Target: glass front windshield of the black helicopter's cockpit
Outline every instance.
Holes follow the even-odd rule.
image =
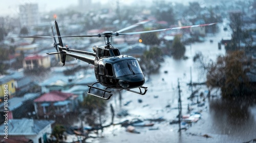
[[[140,65],[137,60],[124,60],[115,63],[113,66],[116,77],[142,74]]]

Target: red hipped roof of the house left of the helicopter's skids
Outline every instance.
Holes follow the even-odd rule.
[[[60,91],[52,91],[49,93],[42,94],[39,98],[35,99],[34,102],[56,102],[65,101],[68,98],[74,96],[72,93],[63,93]]]

